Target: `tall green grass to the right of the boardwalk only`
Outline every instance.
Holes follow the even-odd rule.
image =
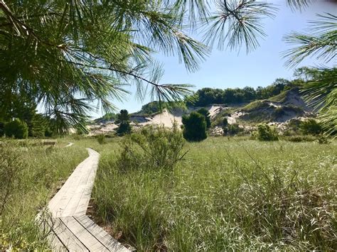
[[[173,170],[102,153],[97,217],[138,251],[336,250],[336,141],[187,143]]]

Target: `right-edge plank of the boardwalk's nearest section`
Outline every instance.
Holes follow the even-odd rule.
[[[121,243],[119,243],[116,239],[114,239],[112,236],[107,234],[106,231],[104,231],[100,226],[95,224],[94,221],[92,221],[89,217],[86,215],[82,215],[80,217],[74,217],[77,221],[82,224],[82,226],[85,227],[90,233],[96,237],[96,239],[99,239],[102,244],[106,248],[109,249],[109,251],[122,251],[127,252],[129,249],[125,248]]]

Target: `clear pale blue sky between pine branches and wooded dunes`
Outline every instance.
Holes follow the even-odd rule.
[[[210,57],[200,65],[198,72],[187,72],[183,64],[178,63],[178,57],[165,57],[157,55],[157,60],[164,64],[164,76],[161,83],[188,83],[195,85],[195,91],[202,87],[213,87],[225,89],[228,87],[265,87],[277,77],[292,78],[294,69],[284,66],[285,60],[281,53],[289,48],[284,43],[283,37],[291,31],[304,31],[307,21],[315,20],[316,13],[337,13],[337,5],[332,1],[317,0],[302,12],[291,11],[285,4],[285,0],[269,0],[269,3],[277,4],[279,11],[275,18],[264,20],[264,31],[267,37],[260,40],[260,48],[252,53],[246,54],[245,48],[240,53],[237,51],[219,51],[213,48]],[[193,35],[193,38],[199,38]],[[301,65],[319,65],[315,59],[307,59]],[[336,63],[336,62],[335,62]],[[299,65],[299,66],[301,66]],[[331,62],[329,65],[333,65]],[[118,109],[127,109],[135,112],[141,109],[142,104],[150,102],[149,96],[144,102],[134,98],[134,87],[129,87],[132,95],[125,102],[114,102]],[[92,114],[93,117],[102,115],[102,111]]]

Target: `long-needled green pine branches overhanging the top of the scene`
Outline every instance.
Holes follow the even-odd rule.
[[[92,109],[112,112],[112,101],[124,99],[129,84],[137,86],[138,99],[149,93],[159,102],[187,97],[191,85],[161,83],[154,53],[177,55],[195,71],[214,44],[257,48],[265,35],[263,18],[277,12],[264,1],[213,2],[214,10],[201,0],[1,0],[0,110],[27,94],[64,133],[70,126],[84,127]],[[302,9],[311,1],[287,2]],[[319,18],[314,33],[287,36],[288,43],[299,45],[285,53],[288,65],[311,55],[327,62],[336,56],[336,16]],[[203,41],[188,31],[203,31]]]

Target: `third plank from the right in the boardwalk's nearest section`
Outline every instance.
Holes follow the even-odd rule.
[[[64,244],[65,248],[69,251],[89,251],[87,247],[71,232],[60,218],[56,218],[53,223],[52,229],[55,236]],[[55,241],[55,239],[54,239]],[[52,243],[53,246],[58,247],[58,241]]]

